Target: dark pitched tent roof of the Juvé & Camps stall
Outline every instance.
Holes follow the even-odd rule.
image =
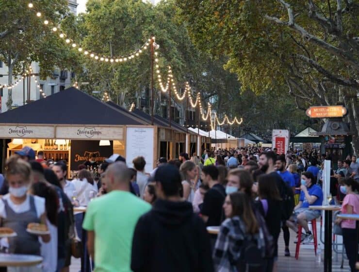
[[[143,125],[142,119],[70,87],[0,114],[0,123]]]

